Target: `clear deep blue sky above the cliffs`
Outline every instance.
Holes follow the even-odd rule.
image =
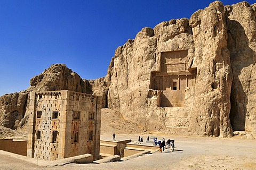
[[[115,49],[143,27],[190,18],[211,2],[0,0],[0,96],[27,89],[55,63],[82,79],[104,77]]]

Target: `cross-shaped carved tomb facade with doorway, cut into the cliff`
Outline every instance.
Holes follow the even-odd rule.
[[[186,88],[195,86],[196,68],[187,66],[187,55],[188,50],[161,53],[160,69],[150,78],[150,89],[159,98],[157,107],[182,107]]]

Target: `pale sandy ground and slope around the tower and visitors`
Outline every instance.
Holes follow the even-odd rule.
[[[148,135],[150,138],[157,136],[158,139],[165,137],[175,140],[175,150],[171,152],[167,149],[162,153],[155,152],[125,162],[67,164],[55,167],[37,166],[36,160],[35,164],[31,164],[9,155],[0,155],[0,169],[256,169],[255,140],[150,134],[109,109],[102,109],[101,129],[102,140],[112,140],[113,132],[116,133],[116,140],[136,141],[139,135],[145,140]],[[0,132],[6,135],[5,130],[0,128]],[[23,134],[24,132],[20,135]]]

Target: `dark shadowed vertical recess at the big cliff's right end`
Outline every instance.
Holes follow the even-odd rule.
[[[242,25],[235,20],[229,19],[227,20],[227,25],[227,48],[230,51],[230,63],[233,72],[229,118],[233,131],[244,131],[248,98],[243,87],[245,83],[241,82],[239,77],[243,76],[244,79],[244,76],[248,76],[250,79],[251,76],[249,74],[244,75],[242,70],[254,63],[254,53],[249,47],[249,39]]]

